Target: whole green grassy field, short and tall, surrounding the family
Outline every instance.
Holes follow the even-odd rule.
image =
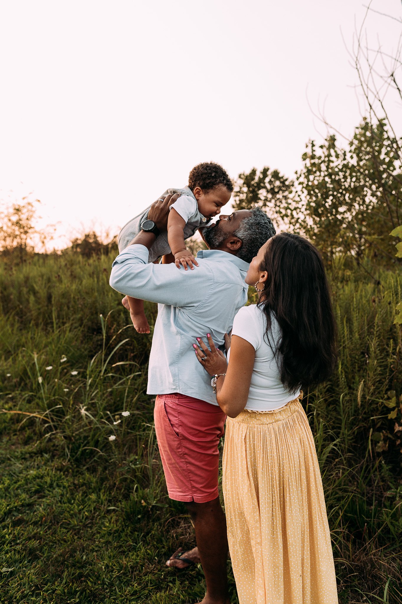
[[[150,336],[109,288],[112,257],[0,260],[0,601],[196,602],[194,542],[167,497],[145,395]],[[331,273],[339,367],[304,405],[342,603],[402,603],[400,275]],[[148,307],[155,320],[156,309]],[[152,334],[151,334],[152,335]],[[396,426],[396,431],[395,431]],[[110,439],[115,437],[115,439]],[[230,562],[232,602],[237,602]]]

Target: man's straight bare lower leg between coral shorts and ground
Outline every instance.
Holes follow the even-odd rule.
[[[196,529],[197,547],[206,580],[206,594],[200,604],[229,604],[228,535],[219,497],[208,503],[186,503]]]

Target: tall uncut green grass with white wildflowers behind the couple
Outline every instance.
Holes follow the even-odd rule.
[[[152,548],[155,525],[184,539],[190,524],[183,506],[167,498],[153,400],[145,395],[152,334],[130,326],[121,296],[109,288],[111,263],[112,257],[75,254],[0,262],[0,430],[7,443],[48,451],[72,472],[102,468],[121,493],[126,518],[141,524]],[[393,324],[401,277],[380,271],[378,285],[342,259],[330,277],[339,365],[330,381],[305,393],[304,405],[321,464],[339,597],[402,603],[402,453],[395,432],[402,424],[401,332]],[[152,325],[155,313],[148,305]],[[147,547],[137,577],[144,594]],[[11,583],[20,585],[18,574]],[[165,587],[154,587],[161,602],[188,595],[180,583]]]

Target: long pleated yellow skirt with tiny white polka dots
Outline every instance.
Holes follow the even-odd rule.
[[[223,495],[240,604],[337,604],[321,474],[298,399],[228,417]]]

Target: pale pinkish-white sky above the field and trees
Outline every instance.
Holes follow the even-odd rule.
[[[60,246],[115,234],[200,161],[292,176],[325,134],[307,89],[345,135],[359,123],[340,30],[351,47],[367,3],[0,1],[0,201],[33,191]],[[370,13],[369,43],[392,52],[401,27]]]

